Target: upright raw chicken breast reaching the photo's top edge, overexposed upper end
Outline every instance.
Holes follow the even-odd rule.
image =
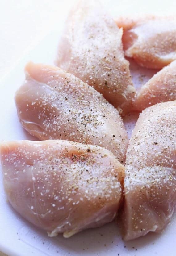
[[[98,1],[79,1],[61,36],[57,65],[93,86],[125,114],[135,88],[124,58],[122,33]]]

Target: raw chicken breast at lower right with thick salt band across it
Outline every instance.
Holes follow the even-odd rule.
[[[124,240],[159,232],[176,205],[176,101],[145,109],[129,142],[124,179]]]

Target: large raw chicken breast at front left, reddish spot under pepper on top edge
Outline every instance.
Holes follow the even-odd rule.
[[[49,236],[115,218],[124,166],[107,149],[63,140],[3,142],[0,149],[10,204]]]

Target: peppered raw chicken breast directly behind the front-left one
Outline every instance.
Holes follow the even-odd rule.
[[[102,146],[124,162],[127,133],[118,111],[99,92],[57,67],[28,63],[25,70],[15,101],[30,134]]]

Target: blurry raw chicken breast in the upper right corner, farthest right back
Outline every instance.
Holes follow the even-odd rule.
[[[148,16],[141,19],[119,18],[124,29],[125,55],[139,65],[161,69],[176,60],[176,18]],[[147,33],[146,33],[147,32]]]

